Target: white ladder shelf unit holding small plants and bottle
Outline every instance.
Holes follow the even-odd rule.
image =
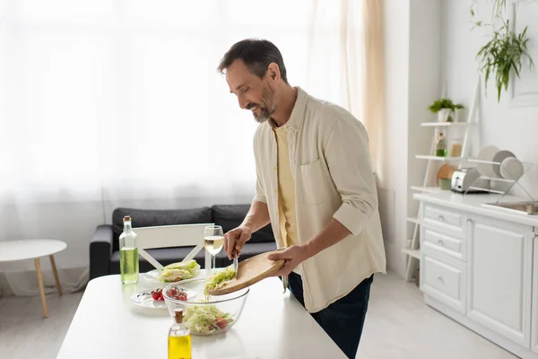
[[[440,193],[444,191],[441,188],[436,186],[431,186],[431,177],[432,177],[432,164],[438,162],[450,162],[457,164],[458,167],[461,166],[461,163],[465,161],[468,157],[469,152],[469,142],[470,134],[469,131],[478,124],[478,107],[480,101],[480,86],[481,86],[481,75],[478,75],[476,86],[474,87],[473,93],[473,102],[470,107],[469,117],[465,122],[422,122],[421,127],[432,127],[434,130],[433,138],[430,146],[430,154],[416,154],[415,158],[417,160],[426,160],[428,165],[426,167],[426,173],[424,175],[424,181],[422,186],[412,186],[411,189],[414,191],[424,192],[424,193]],[[435,139],[438,136],[438,133],[441,131],[446,131],[450,127],[461,128],[464,131],[464,139],[462,144],[462,151],[459,157],[440,157],[435,155]],[[437,185],[437,183],[435,183]],[[412,238],[410,244],[406,243],[406,248],[402,249],[405,254],[405,280],[407,282],[412,280],[413,275],[416,273],[417,268],[420,265],[421,260],[421,246],[420,246],[420,222],[421,214],[420,207],[416,217],[407,217],[406,221],[414,225]]]

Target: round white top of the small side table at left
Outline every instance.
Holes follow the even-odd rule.
[[[66,247],[65,242],[56,240],[0,241],[0,262],[47,257]]]

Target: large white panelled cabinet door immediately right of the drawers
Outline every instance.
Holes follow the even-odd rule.
[[[467,316],[529,348],[533,227],[479,216],[469,227]]]

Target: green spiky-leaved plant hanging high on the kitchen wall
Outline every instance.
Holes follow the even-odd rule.
[[[503,18],[503,10],[506,9],[507,0],[494,0],[493,19],[491,23],[482,21],[474,22],[477,27],[490,26],[492,28],[491,39],[480,49],[476,55],[484,73],[484,84],[487,85],[490,76],[495,78],[497,88],[497,101],[500,101],[500,93],[508,90],[510,75],[515,73],[520,77],[523,60],[529,60],[529,68],[534,66],[533,59],[527,52],[528,38],[527,27],[520,33],[510,30],[508,20]],[[471,7],[471,15],[475,15],[476,2]],[[499,25],[500,24],[500,25]]]

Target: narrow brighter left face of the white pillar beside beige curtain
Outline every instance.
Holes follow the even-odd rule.
[[[408,0],[385,1],[384,31],[386,121],[382,138],[382,168],[378,176],[379,186],[386,190],[385,196],[391,200],[380,200],[380,212],[385,222],[384,229],[388,229],[384,231],[387,267],[402,273],[404,255],[401,233],[405,232],[404,214],[407,206]]]

